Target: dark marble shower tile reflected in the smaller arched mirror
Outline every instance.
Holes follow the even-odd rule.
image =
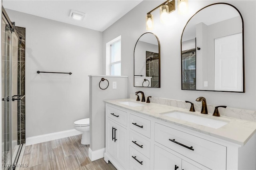
[[[159,87],[159,54],[146,51],[146,76],[152,77],[151,87]]]

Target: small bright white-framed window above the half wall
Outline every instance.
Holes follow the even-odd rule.
[[[106,75],[121,75],[121,36],[106,44]]]

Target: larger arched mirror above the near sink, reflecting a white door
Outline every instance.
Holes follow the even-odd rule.
[[[231,4],[206,6],[181,36],[182,90],[245,92],[244,22]]]

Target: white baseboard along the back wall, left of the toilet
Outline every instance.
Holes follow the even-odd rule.
[[[31,144],[47,142],[50,140],[66,138],[69,136],[75,136],[78,134],[82,134],[82,132],[75,130],[75,129],[71,129],[71,130],[65,130],[65,131],[61,131],[61,132],[54,132],[54,133],[33,136],[33,137],[26,138],[26,146],[31,145]]]

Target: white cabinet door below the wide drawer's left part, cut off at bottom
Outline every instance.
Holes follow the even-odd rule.
[[[155,170],[181,170],[181,162],[181,158],[155,145]]]

